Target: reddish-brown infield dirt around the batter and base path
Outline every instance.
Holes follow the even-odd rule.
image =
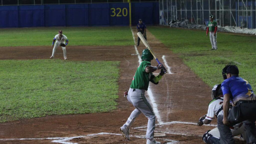
[[[134,33],[135,29],[134,29]],[[135,39],[137,36],[135,36]],[[160,43],[150,32],[147,40],[159,61],[166,62],[171,67],[173,74],[166,74],[158,85],[150,84],[155,105],[158,110],[155,131],[165,133],[165,137],[156,137],[162,143],[204,143],[201,136],[213,126],[197,127],[200,116],[207,113],[208,103],[211,100],[211,88],[196,76],[178,55],[173,54]],[[138,52],[141,53],[145,46],[141,43]],[[0,59],[48,59],[52,47],[1,47]],[[23,119],[0,124],[0,139],[42,138],[40,140],[0,140],[0,143],[53,143],[51,137],[76,137],[66,142],[69,143],[146,143],[143,136],[146,133],[147,118],[141,114],[136,120],[130,134],[130,141],[120,136],[119,128],[125,123],[134,107],[123,97],[124,89],[129,89],[132,78],[138,67],[138,57],[134,46],[67,46],[69,60],[114,60],[120,61],[119,98],[118,108],[112,112],[46,116],[42,118]],[[55,58],[63,59],[63,52],[58,48]],[[152,65],[157,65],[152,60]],[[146,93],[147,95],[147,93]],[[163,124],[159,124],[159,122]],[[169,122],[169,123],[168,123]],[[216,124],[216,120],[212,121]],[[140,128],[138,128],[140,127]],[[105,132],[105,133],[101,133]],[[57,138],[56,138],[57,139]],[[244,143],[239,141],[239,143]]]

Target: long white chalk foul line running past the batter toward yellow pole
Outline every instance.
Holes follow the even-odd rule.
[[[131,28],[131,31],[132,31],[132,27],[130,27],[130,28]],[[133,36],[134,44],[136,44],[133,31],[132,31],[132,36]],[[135,48],[136,54],[138,55],[139,64],[141,64],[142,60],[141,60],[141,57],[140,57],[140,55],[139,55],[137,46],[134,45],[134,48]],[[155,115],[156,115],[156,120],[157,120],[160,124],[163,123],[163,121],[161,120],[161,116],[160,116],[160,114],[159,114],[159,111],[158,111],[158,109],[157,109],[157,104],[156,104],[156,102],[155,102],[155,98],[154,98],[153,93],[152,93],[152,91],[151,91],[150,85],[148,86],[147,94],[148,94],[148,98],[149,98],[150,101],[151,101],[151,105],[152,105],[153,111],[154,111],[154,113],[155,113]]]

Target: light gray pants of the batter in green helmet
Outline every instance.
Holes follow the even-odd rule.
[[[127,99],[132,103],[135,109],[128,118],[126,125],[131,121],[134,121],[139,114],[143,113],[148,118],[146,138],[152,140],[155,130],[155,114],[150,103],[145,97],[145,90],[130,88]]]

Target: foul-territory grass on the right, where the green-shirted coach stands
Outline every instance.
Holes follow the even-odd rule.
[[[256,88],[256,37],[233,33],[218,33],[218,50],[212,51],[209,35],[203,30],[151,26],[148,28],[164,45],[183,58],[210,87],[223,81],[222,68],[237,65],[239,75]]]

